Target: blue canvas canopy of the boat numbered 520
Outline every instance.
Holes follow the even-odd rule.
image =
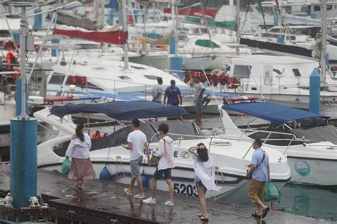
[[[181,106],[165,106],[151,101],[113,101],[108,103],[67,103],[50,109],[50,113],[63,118],[73,113],[105,113],[110,118],[129,120],[136,118],[162,118],[188,115]]]

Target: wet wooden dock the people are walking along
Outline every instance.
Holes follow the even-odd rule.
[[[156,205],[146,205],[124,194],[125,185],[112,181],[90,181],[85,191],[76,191],[73,182],[58,172],[38,171],[38,193],[48,202],[52,218],[82,223],[201,223],[198,198],[176,195],[176,206],[164,205],[168,194],[158,192]],[[9,190],[9,165],[0,164],[0,194]],[[135,191],[137,188],[135,189]],[[136,193],[136,192],[135,192]],[[149,191],[146,191],[149,196]],[[208,201],[209,223],[331,223],[271,211],[263,220],[251,217],[254,208]],[[41,210],[42,213],[42,210]],[[0,221],[1,223],[1,221]]]

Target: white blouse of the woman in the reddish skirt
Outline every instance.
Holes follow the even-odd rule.
[[[91,138],[87,133],[83,134],[85,137],[83,142],[80,138],[75,138],[70,141],[67,152],[65,152],[66,157],[74,157],[77,159],[87,159],[90,157]]]

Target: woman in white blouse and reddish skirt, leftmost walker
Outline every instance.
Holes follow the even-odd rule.
[[[91,139],[84,133],[84,125],[77,125],[75,135],[68,146],[65,157],[71,157],[69,179],[76,181],[75,188],[84,189],[85,181],[95,178],[95,170],[90,160]]]

